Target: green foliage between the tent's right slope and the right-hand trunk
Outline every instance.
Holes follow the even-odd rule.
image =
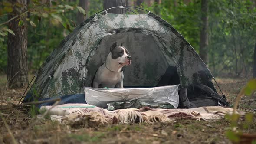
[[[147,7],[145,3],[142,5]],[[147,9],[170,23],[194,49],[199,49],[200,0],[191,0],[191,3],[187,4],[184,0],[162,0],[160,4],[154,3]]]

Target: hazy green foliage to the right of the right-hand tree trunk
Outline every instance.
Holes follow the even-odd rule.
[[[256,8],[251,5],[249,0],[211,1],[210,66],[250,72],[256,40]]]

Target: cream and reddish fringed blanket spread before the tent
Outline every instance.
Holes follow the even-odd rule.
[[[52,106],[42,106],[40,112],[43,113],[51,107]],[[108,111],[87,104],[64,104],[57,105],[50,109],[49,115],[52,120],[57,120],[61,123],[89,118],[89,121],[95,121],[98,124],[128,124],[167,122],[177,118],[211,121],[223,118],[224,115],[232,113],[232,111],[232,108],[224,108],[220,106],[190,109],[152,109],[143,107],[140,109],[130,108]],[[238,114],[244,115],[244,112],[239,111]]]

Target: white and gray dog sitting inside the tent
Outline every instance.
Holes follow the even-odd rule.
[[[110,48],[106,61],[95,74],[92,82],[93,87],[124,88],[122,67],[125,65],[131,65],[131,56],[129,56],[129,52],[123,44],[118,46],[115,42]]]

